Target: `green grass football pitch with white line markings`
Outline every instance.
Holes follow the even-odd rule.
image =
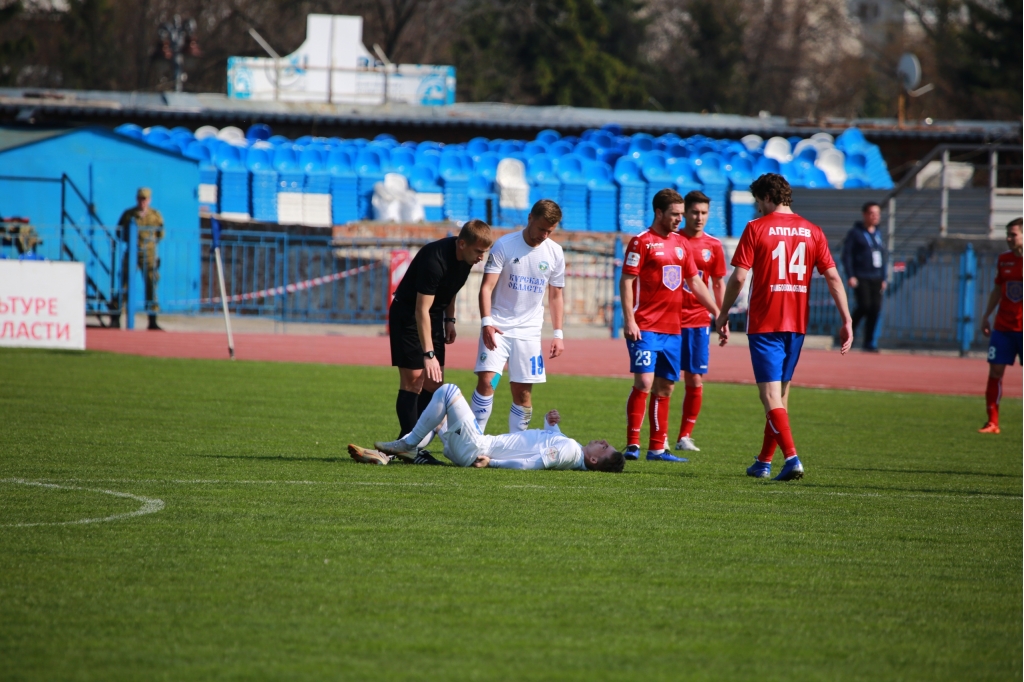
[[[984,436],[981,398],[796,389],[807,476],[772,483],[752,386],[621,475],[351,462],[396,388],[0,351],[0,679],[1021,678],[1020,400]],[[628,391],[554,376],[535,422],[621,444]]]

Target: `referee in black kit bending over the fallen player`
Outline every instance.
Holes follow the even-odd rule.
[[[388,311],[391,365],[400,386],[395,412],[402,437],[413,430],[434,391],[444,381],[444,344],[455,342],[455,297],[469,270],[494,244],[490,226],[470,220],[459,237],[426,245],[413,258]],[[440,464],[420,451],[414,464]]]

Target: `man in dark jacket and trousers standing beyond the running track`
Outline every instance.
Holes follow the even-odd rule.
[[[886,265],[888,254],[879,233],[882,222],[882,207],[867,202],[860,209],[863,220],[853,223],[843,243],[843,269],[847,283],[857,299],[857,309],[853,311],[853,329],[864,319],[864,350],[878,352],[874,345],[874,328],[882,312],[882,292],[886,290]]]

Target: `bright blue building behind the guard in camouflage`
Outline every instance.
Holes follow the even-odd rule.
[[[194,310],[201,272],[196,161],[102,128],[0,127],[0,216],[30,220],[43,239],[38,255],[86,264],[90,313],[102,310],[97,302],[115,286],[111,238],[143,186],[164,216],[161,309]],[[141,273],[132,270],[141,291]]]

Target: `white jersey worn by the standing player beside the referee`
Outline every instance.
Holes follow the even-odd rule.
[[[554,240],[531,247],[523,232],[495,242],[483,267],[499,274],[490,316],[510,339],[540,338],[544,327],[544,293],[548,286],[565,286],[565,256]]]

